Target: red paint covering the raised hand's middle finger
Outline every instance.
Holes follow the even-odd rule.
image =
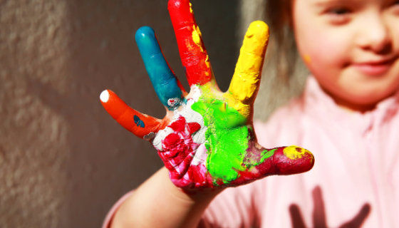
[[[201,38],[202,51],[192,40],[193,26],[197,27],[197,23],[194,14],[190,12],[190,1],[170,0],[167,8],[175,29],[177,46],[179,46],[180,58],[185,67],[189,85],[203,85],[211,81],[212,72],[205,62],[207,50],[204,42]]]

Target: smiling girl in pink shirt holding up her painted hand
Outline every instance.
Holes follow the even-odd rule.
[[[168,87],[167,91],[162,92],[163,95],[158,93],[169,109],[169,118],[158,121],[129,110],[129,115],[135,116],[135,125],[128,125],[125,114],[118,114],[121,108],[126,109],[124,103],[110,91],[106,90],[101,94],[105,109],[135,135],[150,140],[168,169],[162,168],[135,192],[120,199],[105,220],[104,227],[399,226],[399,218],[395,216],[399,211],[399,140],[395,139],[395,135],[399,133],[399,1],[268,2],[273,5],[269,7],[273,9],[272,14],[269,14],[274,16],[271,20],[272,28],[283,31],[281,34],[284,36],[287,34],[284,32],[284,24],[289,24],[294,31],[299,53],[312,76],[309,76],[301,97],[277,110],[268,123],[254,124],[257,140],[266,147],[291,143],[304,146],[314,152],[317,162],[313,163],[313,156],[308,150],[299,147],[280,147],[276,150],[261,148],[252,135],[252,104],[259,85],[259,76],[253,75],[256,75],[257,70],[261,71],[259,62],[263,61],[266,27],[260,23],[250,26],[236,68],[236,73],[242,74],[234,73],[229,92],[219,94],[212,86],[206,86],[212,84],[213,76],[199,30],[194,26],[190,31],[191,41],[194,43],[190,47],[197,45],[197,53],[190,52],[191,49],[182,50],[181,47],[187,43],[179,44],[183,65],[195,67],[195,71],[191,71],[190,67],[186,68],[192,91],[187,95],[177,87]],[[170,10],[184,3],[185,1],[170,1]],[[177,20],[176,15],[183,14],[171,15],[172,22]],[[179,24],[176,21],[173,23],[174,26]],[[176,31],[178,42],[179,32],[180,30]],[[143,30],[140,34],[150,36],[152,33]],[[140,41],[137,36],[136,39],[139,48],[140,45],[146,45],[147,40]],[[167,65],[163,58],[156,62],[157,65],[152,64],[155,61],[146,63],[145,56],[148,52],[142,50],[149,50],[148,47],[153,46],[140,48],[151,79],[155,75],[167,74],[163,72],[165,68],[155,69],[155,66]],[[185,53],[190,55],[187,57]],[[247,58],[251,60],[246,62]],[[204,61],[198,61],[201,59]],[[190,61],[197,62],[190,65]],[[245,63],[251,64],[248,67]],[[192,72],[202,72],[202,77],[190,75]],[[173,78],[163,77],[165,81],[162,83],[175,82]],[[251,80],[253,83],[249,82]],[[156,83],[155,80],[152,82],[156,90],[159,87],[162,89],[161,83]],[[237,86],[238,84],[244,86]],[[180,84],[175,82],[173,85]],[[187,99],[172,99],[175,97]],[[211,105],[203,101],[211,99],[209,97],[213,99]],[[217,105],[214,101],[216,98],[224,100],[226,105],[212,106]],[[234,99],[241,103],[234,103]],[[118,108],[113,108],[117,106]],[[232,107],[238,113],[234,114],[234,118],[216,115],[218,110],[226,111]],[[217,128],[208,123],[210,114],[205,112],[201,119],[200,115],[191,115],[191,110],[200,114],[212,110],[219,117],[212,119],[212,123],[224,119],[244,123],[239,125],[239,129],[245,127],[247,133],[240,133],[248,134],[246,137],[249,140],[246,145],[248,149],[242,151],[245,155],[240,163],[244,166],[242,170],[232,164],[234,169],[229,169],[223,175],[220,173],[226,171],[226,166],[221,166],[219,172],[212,171],[212,167],[219,167],[219,163],[210,164],[212,157],[208,159],[207,156],[226,148],[227,152],[234,151],[236,144],[226,143],[229,146],[223,146],[225,142],[221,137],[218,142],[222,147],[217,147],[217,143],[212,145],[212,135],[209,136],[207,129],[215,130],[212,132],[215,135],[218,132]],[[197,122],[188,121],[194,115],[197,116]],[[235,118],[241,118],[241,115],[244,119]],[[184,118],[184,124],[179,125]],[[224,124],[230,124],[229,121]],[[149,127],[145,127],[147,125]],[[181,130],[179,134],[177,130],[173,132],[181,126],[186,126],[185,130]],[[237,126],[234,126],[236,129]],[[196,144],[201,139],[195,136],[201,135],[202,130],[208,137],[204,147],[200,143]],[[180,138],[170,135],[179,135]],[[177,147],[167,147],[175,146],[180,139],[190,141],[191,144],[188,145],[195,147],[185,147],[182,151],[175,151]],[[250,146],[251,143],[254,146]],[[188,154],[190,150],[196,153]],[[173,165],[176,162],[175,157],[171,154],[167,157],[165,154],[174,151],[176,153],[173,156],[179,157],[182,152],[186,153],[185,157],[192,156],[191,165],[184,166],[184,162],[179,163],[184,167]],[[259,155],[261,158],[257,160],[256,156],[254,158],[249,155]],[[223,164],[230,164],[229,160],[233,160],[234,156],[229,154],[224,157]],[[254,164],[254,161],[258,163]],[[315,165],[310,172],[301,175],[267,177],[241,187],[217,188],[242,185],[271,174],[304,172],[311,169],[313,164]],[[205,170],[199,168],[201,165],[204,165]],[[198,170],[193,167],[198,167]],[[180,176],[182,170],[188,175]],[[231,170],[238,172],[238,175],[230,173]],[[252,171],[247,172],[248,170]],[[168,171],[175,185],[170,182]],[[203,173],[209,175],[201,175]],[[215,176],[219,179],[214,179]],[[211,181],[207,178],[211,178]],[[187,190],[192,188],[202,190]]]

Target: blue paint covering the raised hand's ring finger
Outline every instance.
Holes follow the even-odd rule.
[[[183,99],[182,90],[177,86],[177,78],[163,56],[154,30],[148,26],[141,27],[136,32],[135,39],[158,98],[169,110],[175,110],[176,107],[168,105],[167,100]]]

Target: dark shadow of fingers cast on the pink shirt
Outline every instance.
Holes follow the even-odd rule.
[[[312,192],[313,202],[314,202],[314,211],[312,214],[313,217],[313,226],[314,228],[326,228],[327,219],[326,219],[326,211],[324,208],[324,200],[323,195],[321,193],[321,188],[319,186],[315,187]],[[371,206],[366,203],[363,204],[358,214],[356,214],[353,219],[348,222],[343,223],[339,228],[358,228],[361,227],[368,214],[370,214]],[[291,215],[292,227],[294,228],[304,228],[306,227],[304,218],[301,214],[301,209],[297,204],[291,204],[289,207],[289,214]]]

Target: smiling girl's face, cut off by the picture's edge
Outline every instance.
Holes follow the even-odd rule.
[[[399,1],[293,0],[296,43],[338,105],[371,110],[399,88]]]

